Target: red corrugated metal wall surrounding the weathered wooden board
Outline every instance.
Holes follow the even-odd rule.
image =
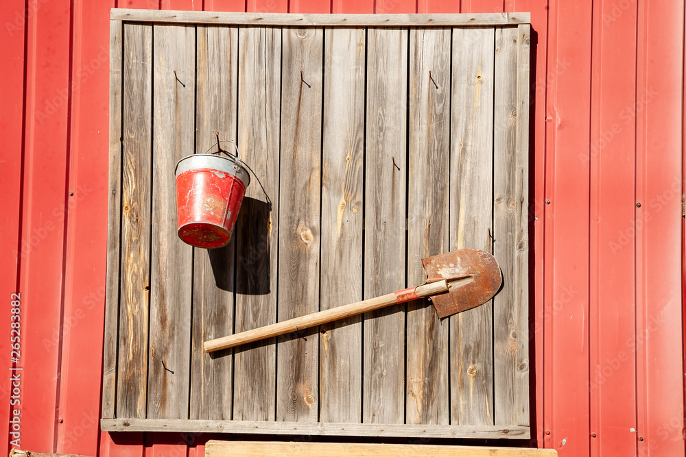
[[[204,452],[206,437],[98,428],[110,8],[531,12],[533,444],[684,455],[685,12],[648,0],[0,2],[3,443]]]

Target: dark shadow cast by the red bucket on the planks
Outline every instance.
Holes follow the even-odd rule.
[[[245,295],[266,295],[271,291],[270,205],[246,197],[241,203],[233,240],[220,249],[208,249],[217,287]],[[233,266],[235,282],[227,269]],[[229,277],[231,276],[231,277]]]

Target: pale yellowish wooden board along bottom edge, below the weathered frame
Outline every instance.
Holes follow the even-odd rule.
[[[447,445],[392,445],[362,443],[278,443],[273,441],[208,441],[205,457],[248,456],[462,456],[553,457],[554,449]]]

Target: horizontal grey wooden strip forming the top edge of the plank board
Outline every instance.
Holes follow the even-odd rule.
[[[114,8],[121,21],[291,27],[445,27],[451,25],[517,25],[531,22],[528,12],[475,14],[296,14],[203,11],[128,10]]]

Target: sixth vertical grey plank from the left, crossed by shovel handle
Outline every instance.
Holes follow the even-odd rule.
[[[362,299],[365,29],[324,34],[320,308]],[[320,421],[362,419],[362,317],[320,329]]]

